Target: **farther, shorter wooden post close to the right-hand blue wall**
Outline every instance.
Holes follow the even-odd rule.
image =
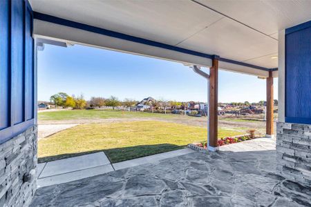
[[[269,71],[269,77],[267,77],[267,121],[266,121],[266,134],[273,135],[273,77],[272,71]]]

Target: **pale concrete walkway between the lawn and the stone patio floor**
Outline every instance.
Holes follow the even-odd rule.
[[[130,168],[142,164],[153,163],[162,159],[186,155],[193,152],[190,149],[174,150],[157,155],[150,155],[138,159],[121,161],[111,164],[104,152],[97,152],[89,155],[48,161],[38,165],[37,169],[37,186],[38,188],[63,184],[69,181],[84,179],[95,175],[102,175],[114,170]]]

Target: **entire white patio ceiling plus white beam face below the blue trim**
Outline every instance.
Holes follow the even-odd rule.
[[[278,31],[311,19],[311,1],[51,1],[30,0],[32,9],[96,28],[269,70],[278,67]],[[70,34],[74,33],[74,34]],[[183,63],[211,66],[206,57],[181,55],[142,43],[35,20],[35,34]],[[267,77],[267,71],[221,61],[224,70]],[[274,77],[277,72],[274,72]]]

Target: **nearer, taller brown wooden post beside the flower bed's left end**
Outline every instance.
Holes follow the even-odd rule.
[[[217,147],[218,135],[218,59],[209,69],[209,146]]]

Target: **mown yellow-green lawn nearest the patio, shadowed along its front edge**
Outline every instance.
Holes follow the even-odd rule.
[[[79,117],[83,117],[85,111],[81,110]],[[46,115],[55,116],[54,119],[68,119],[68,116],[75,116],[76,113],[77,110],[62,111],[62,115],[59,115],[59,112],[55,115],[53,112],[39,113],[39,119],[43,119]],[[131,114],[136,114],[136,112],[131,112]],[[156,114],[138,112],[137,115]],[[109,117],[109,113],[103,113],[102,116]],[[234,130],[221,128],[218,130],[218,137],[240,134],[241,132]],[[203,141],[206,137],[205,128],[164,121],[82,124],[40,139],[38,157],[39,162],[44,162],[104,151],[111,162],[115,163],[185,148],[187,144]]]

